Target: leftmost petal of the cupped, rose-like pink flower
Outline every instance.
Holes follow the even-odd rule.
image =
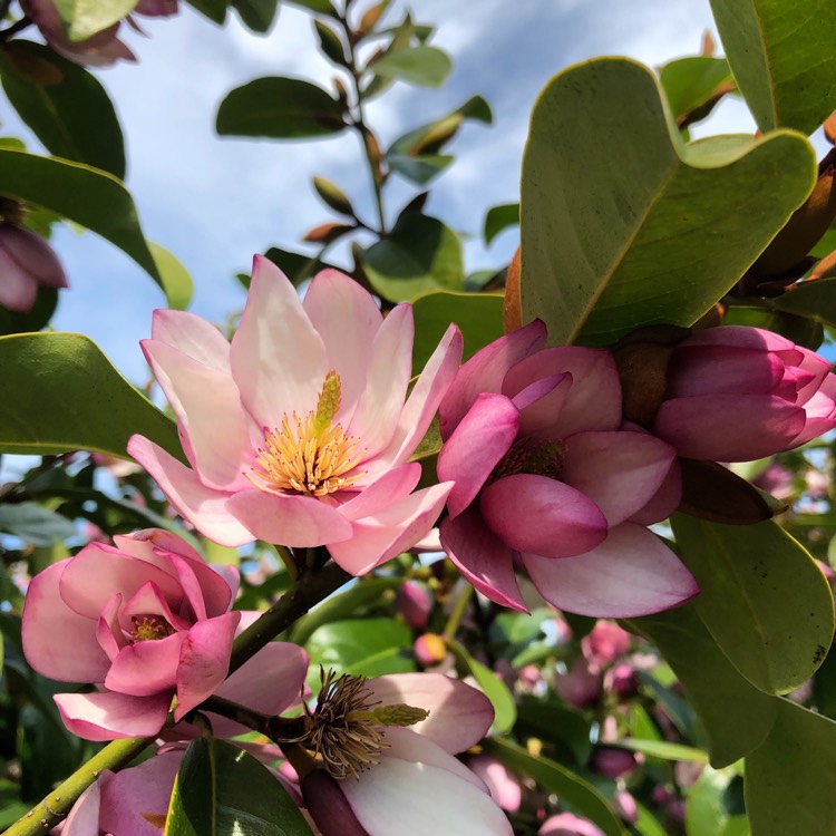
[[[23,654],[49,679],[101,682],[110,663],[96,640],[96,621],[70,610],[60,594],[61,574],[71,560],[47,566],[29,584],[21,628]]]

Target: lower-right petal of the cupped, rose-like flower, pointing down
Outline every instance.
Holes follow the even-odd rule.
[[[177,670],[175,720],[182,720],[226,679],[232,640],[240,618],[241,613],[229,612],[216,619],[198,621],[188,631]]]

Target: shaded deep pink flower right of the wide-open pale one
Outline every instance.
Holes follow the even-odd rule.
[[[584,615],[658,612],[697,584],[644,526],[679,504],[672,447],[621,429],[612,354],[541,349],[535,321],[465,363],[440,406],[438,476],[455,479],[441,544],[493,601],[526,610],[514,575]]]

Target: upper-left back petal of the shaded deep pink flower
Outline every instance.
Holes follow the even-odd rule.
[[[541,320],[534,320],[477,351],[459,369],[441,401],[441,438],[446,440],[450,436],[480,392],[500,392],[508,369],[541,348],[545,340],[546,327]]]

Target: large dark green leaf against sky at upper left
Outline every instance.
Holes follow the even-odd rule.
[[[38,84],[21,61],[46,61],[59,81]],[[0,78],[11,106],[57,157],[125,178],[125,144],[113,103],[98,79],[40,43],[16,40],[0,56]]]

